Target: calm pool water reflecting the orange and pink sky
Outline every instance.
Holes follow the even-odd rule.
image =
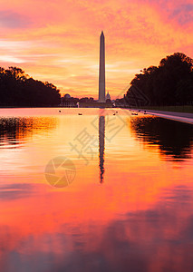
[[[193,270],[193,127],[117,111],[0,110],[1,271]]]

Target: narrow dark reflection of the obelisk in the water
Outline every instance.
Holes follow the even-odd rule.
[[[100,167],[100,182],[104,179],[104,149],[105,149],[105,117],[99,117],[99,167]]]

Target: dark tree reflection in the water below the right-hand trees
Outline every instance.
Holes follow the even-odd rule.
[[[159,117],[138,117],[130,120],[130,128],[138,140],[149,146],[159,146],[160,154],[171,160],[185,160],[190,156],[191,124]]]

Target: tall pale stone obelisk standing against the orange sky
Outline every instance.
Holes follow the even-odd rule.
[[[100,37],[99,102],[105,102],[105,45],[103,31]]]

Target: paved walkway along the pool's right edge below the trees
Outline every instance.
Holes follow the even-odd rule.
[[[163,111],[151,111],[151,110],[134,110],[136,112],[146,112],[151,115],[156,115],[170,120],[183,121],[193,124],[193,113],[188,112],[163,112]]]

